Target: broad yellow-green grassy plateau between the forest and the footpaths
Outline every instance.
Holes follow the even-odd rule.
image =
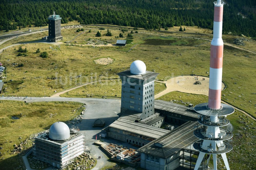
[[[85,28],[89,27],[98,28],[95,26]],[[74,41],[79,44],[86,43],[89,39],[96,39],[95,33],[98,30],[94,28],[92,28],[91,33],[86,31]],[[115,42],[115,36],[122,32],[118,28],[114,29],[116,30],[111,30],[112,37],[104,35],[106,29],[100,30],[102,34],[100,40]],[[189,30],[189,28],[186,29]],[[194,27],[193,29],[195,32],[200,30]],[[78,35],[76,30],[63,29],[63,41],[71,40]],[[124,38],[122,39],[125,39],[131,30],[132,28],[127,29],[127,32],[123,33]],[[154,31],[147,30],[145,32],[154,33]],[[210,43],[195,47],[194,45],[205,42],[205,40],[174,38],[147,33],[134,33],[133,42],[125,47],[65,46],[61,44],[61,47],[58,48],[57,45],[52,44],[23,44],[22,47],[28,49],[27,56],[17,56],[18,46],[10,47],[0,56],[1,62],[7,67],[7,79],[5,80],[7,89],[4,95],[50,96],[55,90],[61,91],[98,79],[118,78],[116,73],[128,69],[130,64],[137,59],[145,62],[147,70],[160,73],[157,76],[158,80],[167,80],[172,73],[174,76],[191,74],[191,72],[202,76],[209,75],[207,72],[209,72]],[[209,31],[205,33],[208,34]],[[176,33],[169,35],[174,34],[176,35]],[[181,33],[177,33],[177,35],[181,35]],[[183,36],[185,35],[183,34]],[[210,38],[212,35],[207,36]],[[225,38],[228,36],[230,36],[230,40],[234,38],[233,35],[225,35]],[[31,35],[29,40],[35,40],[39,37],[41,35]],[[255,41],[251,40],[251,43],[255,43]],[[135,44],[138,45],[127,53],[127,50]],[[57,50],[51,50],[49,46]],[[49,57],[39,57],[39,54],[35,54],[37,48],[41,52],[47,51]],[[254,88],[256,81],[253,78],[256,73],[256,55],[229,46],[224,48],[222,80],[228,88],[222,91],[222,94],[225,95],[222,96],[222,100],[256,117],[256,89]],[[95,64],[95,59],[103,57],[110,57],[114,59],[114,62],[106,66]],[[23,63],[24,66],[17,67],[17,65],[13,66],[12,63]],[[9,81],[11,79],[13,81]],[[100,95],[103,96],[104,94]]]

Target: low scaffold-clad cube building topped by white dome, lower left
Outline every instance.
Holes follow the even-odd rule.
[[[84,152],[83,138],[78,129],[69,129],[65,123],[56,122],[51,125],[49,132],[35,138],[33,157],[63,168]]]

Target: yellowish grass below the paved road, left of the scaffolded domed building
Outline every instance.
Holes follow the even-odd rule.
[[[32,146],[31,135],[49,129],[57,121],[66,121],[74,115],[72,110],[77,109],[80,103],[76,102],[36,102],[23,103],[16,101],[0,102],[0,147],[3,147],[0,156],[0,169],[15,169],[24,166],[21,154],[13,154],[14,144],[24,142],[23,151]],[[12,119],[16,116],[19,119]],[[37,123],[35,123],[37,122]],[[21,137],[21,139],[20,139]],[[24,169],[24,168],[23,168]]]

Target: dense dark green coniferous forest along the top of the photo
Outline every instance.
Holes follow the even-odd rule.
[[[256,1],[225,0],[223,33],[256,37]],[[46,26],[53,11],[61,22],[158,29],[213,28],[213,0],[1,0],[0,30]]]

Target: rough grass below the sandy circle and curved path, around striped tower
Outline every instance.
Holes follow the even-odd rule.
[[[205,95],[187,94],[177,91],[170,92],[158,99],[165,101],[182,100],[183,102],[190,102],[194,105],[208,101],[208,97]],[[175,103],[182,104],[180,102]],[[233,150],[227,153],[230,169],[255,169],[256,163],[251,157],[255,155],[256,151],[254,147],[256,145],[256,122],[239,111],[228,115],[227,118],[234,128],[234,136],[231,142]],[[223,166],[225,165],[222,161],[222,165],[218,164],[218,169],[223,169]]]

